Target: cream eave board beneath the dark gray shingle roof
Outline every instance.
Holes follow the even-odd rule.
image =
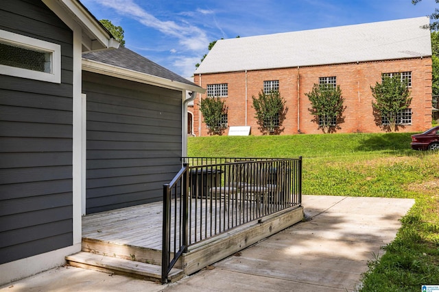
[[[204,94],[206,92],[204,88],[200,88],[197,85],[190,85],[179,81],[165,79],[135,70],[108,65],[102,62],[96,62],[90,59],[82,59],[82,70],[130,81],[136,81],[139,83],[155,85],[161,88],[168,88],[171,90],[187,90],[191,92],[198,92],[201,94]]]

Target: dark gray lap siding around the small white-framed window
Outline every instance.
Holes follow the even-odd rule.
[[[0,75],[0,264],[72,244],[73,34],[41,1],[0,1],[0,29],[61,45],[62,83]]]

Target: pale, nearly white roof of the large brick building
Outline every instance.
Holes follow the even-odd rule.
[[[195,74],[431,56],[428,24],[425,16],[218,40]]]

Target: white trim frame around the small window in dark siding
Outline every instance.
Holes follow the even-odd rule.
[[[51,72],[38,72],[0,64],[0,74],[52,83],[61,83],[61,46],[59,44],[38,40],[36,38],[29,38],[28,36],[14,34],[13,32],[1,29],[0,41],[18,45],[25,49],[45,51],[51,55]]]

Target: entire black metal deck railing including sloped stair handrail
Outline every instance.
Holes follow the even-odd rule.
[[[300,207],[302,157],[183,157],[182,162],[182,170],[163,189],[162,265],[167,267],[162,267],[162,282],[190,245]]]

